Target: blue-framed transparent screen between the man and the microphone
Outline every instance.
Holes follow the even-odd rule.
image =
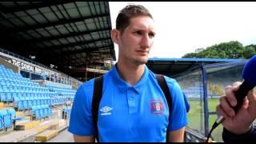
[[[246,61],[201,65],[177,75],[175,78],[190,102],[188,114],[192,130],[208,136],[217,119],[215,112],[218,98],[224,94],[225,86],[242,81],[242,70]],[[216,142],[222,142],[222,126],[211,134]]]

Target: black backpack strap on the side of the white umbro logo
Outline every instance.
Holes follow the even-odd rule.
[[[92,102],[92,114],[93,114],[93,121],[94,121],[94,130],[95,130],[95,138],[98,142],[98,107],[99,102],[102,99],[102,88],[103,88],[103,76],[98,78],[94,78],[94,95],[93,95],[93,102]]]

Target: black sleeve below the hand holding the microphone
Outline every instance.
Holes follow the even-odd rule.
[[[233,134],[223,128],[222,139],[226,143],[231,142],[255,142],[256,141],[256,125],[253,124],[246,134]]]

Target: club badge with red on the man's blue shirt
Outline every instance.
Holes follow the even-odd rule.
[[[162,99],[153,99],[150,101],[150,112],[151,114],[163,114],[164,112],[164,104]]]

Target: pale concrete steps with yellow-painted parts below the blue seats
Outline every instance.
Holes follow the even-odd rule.
[[[0,102],[0,109],[1,106],[4,109],[10,107],[3,102]],[[67,121],[60,119],[58,113],[54,114],[54,110],[53,116],[40,120],[34,120],[29,112],[29,110],[16,110],[16,117],[25,119],[15,121],[10,130],[2,130],[0,142],[46,142],[67,128]]]

